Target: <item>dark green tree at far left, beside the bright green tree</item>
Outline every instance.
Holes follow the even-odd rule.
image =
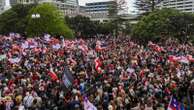
[[[0,15],[0,34],[8,34],[10,32],[25,33],[27,26],[26,16],[34,5],[15,5]]]

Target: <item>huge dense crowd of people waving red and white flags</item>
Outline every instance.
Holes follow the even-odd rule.
[[[176,39],[0,36],[1,110],[194,109],[194,46]],[[73,76],[65,87],[64,71]]]

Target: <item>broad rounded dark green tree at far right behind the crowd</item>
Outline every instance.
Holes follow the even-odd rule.
[[[161,38],[161,36],[182,38],[181,32],[193,34],[194,16],[173,9],[155,10],[144,16],[133,28],[133,36],[145,41]]]

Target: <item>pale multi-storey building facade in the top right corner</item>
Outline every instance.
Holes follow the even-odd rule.
[[[194,13],[194,0],[163,0],[157,5],[161,8],[174,8],[182,12]]]

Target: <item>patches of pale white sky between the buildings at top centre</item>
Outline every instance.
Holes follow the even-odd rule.
[[[110,0],[79,0],[79,4],[84,6],[85,3],[91,3],[91,2],[102,2],[102,1],[110,1]],[[125,0],[127,2],[127,7],[128,7],[128,12],[132,13],[133,11],[135,11],[134,8],[134,2],[135,0]]]

